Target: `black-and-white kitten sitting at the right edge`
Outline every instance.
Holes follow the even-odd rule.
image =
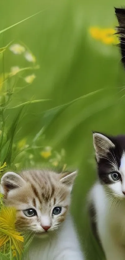
[[[93,133],[98,180],[90,192],[91,223],[107,260],[125,260],[125,135]]]

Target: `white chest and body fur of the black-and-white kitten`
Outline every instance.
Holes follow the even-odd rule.
[[[124,173],[125,174],[125,173]],[[122,184],[114,184],[122,192]],[[112,186],[113,187],[113,186]],[[96,183],[91,190],[91,201],[96,209],[97,231],[106,260],[125,259],[125,199],[116,201],[105,191],[105,187]],[[122,195],[123,196],[123,195]],[[121,197],[121,196],[120,196]],[[124,196],[125,197],[125,196]]]

